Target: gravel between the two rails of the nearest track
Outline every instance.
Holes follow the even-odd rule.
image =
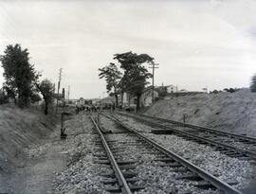
[[[110,124],[112,122],[112,124]],[[113,121],[104,122],[103,126],[113,127]],[[155,161],[158,156],[152,153],[155,149],[146,147],[137,147],[135,144],[138,137],[131,136],[130,133],[109,133],[105,134],[106,139],[111,142],[111,148],[119,148],[121,156],[119,160],[137,161],[135,164],[136,169],[132,170],[137,173],[137,185],[144,186],[145,189],[139,190],[137,194],[150,194],[150,193],[184,193],[191,191],[192,193],[220,193],[219,191],[202,190],[194,185],[198,182],[191,182],[188,180],[177,179],[181,175],[180,172],[174,172],[172,169],[164,165],[163,162]],[[114,143],[113,143],[114,142]],[[139,143],[145,145],[144,143]],[[156,151],[156,150],[155,150]],[[185,172],[186,173],[186,172]],[[184,175],[184,172],[182,173]]]

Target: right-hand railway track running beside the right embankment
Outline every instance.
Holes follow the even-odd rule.
[[[229,157],[235,157],[241,160],[256,160],[256,138],[154,116],[135,115],[122,112],[119,112],[118,114],[135,118],[141,123],[154,128],[156,127],[157,130],[155,130],[154,133],[174,134],[186,140],[209,145],[214,150],[218,150]]]

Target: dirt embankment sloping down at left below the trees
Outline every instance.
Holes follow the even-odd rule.
[[[0,106],[0,174],[23,167],[24,149],[53,130],[53,119],[35,110]]]

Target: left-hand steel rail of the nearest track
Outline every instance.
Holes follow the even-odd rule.
[[[114,157],[112,151],[110,150],[110,148],[109,148],[109,146],[108,146],[108,144],[107,144],[107,142],[106,142],[106,140],[105,140],[105,138],[104,138],[104,136],[103,136],[99,126],[98,126],[98,124],[96,123],[96,121],[93,118],[93,116],[90,116],[90,117],[91,117],[91,119],[92,119],[92,121],[93,121],[93,123],[95,125],[95,128],[96,128],[97,132],[99,133],[99,135],[101,137],[102,145],[104,147],[104,150],[107,153],[107,156],[108,156],[108,159],[110,161],[110,164],[111,164],[112,168],[114,169],[115,174],[116,174],[116,176],[118,178],[119,186],[120,186],[120,189],[121,189],[122,193],[123,194],[132,194],[132,191],[130,190],[127,182],[125,181],[125,179],[124,179],[124,177],[123,177],[123,175],[121,173],[121,170],[119,168],[119,165],[118,165],[117,161],[115,160],[115,157]]]

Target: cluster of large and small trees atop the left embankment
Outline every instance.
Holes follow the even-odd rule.
[[[12,98],[20,108],[27,108],[30,103],[45,101],[45,114],[48,114],[49,104],[53,101],[54,85],[48,80],[40,81],[42,75],[29,62],[28,49],[20,44],[7,45],[4,55],[0,56],[4,69],[5,82],[0,92],[0,103]]]

